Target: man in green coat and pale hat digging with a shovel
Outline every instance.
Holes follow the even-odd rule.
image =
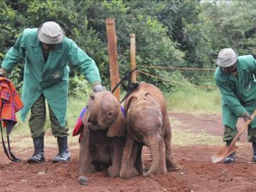
[[[218,54],[217,65],[214,79],[222,95],[223,141],[230,145],[238,133],[238,118],[246,122],[256,109],[256,60],[252,55],[238,56],[232,48],[224,48]],[[252,142],[252,161],[256,162],[256,119],[248,126],[247,140]],[[234,161],[235,152],[224,159],[225,163]]]

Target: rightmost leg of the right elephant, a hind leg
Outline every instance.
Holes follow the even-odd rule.
[[[164,144],[166,148],[166,169],[167,171],[176,171],[181,167],[176,163],[171,152],[171,126],[169,124],[167,129],[166,137],[164,137]]]

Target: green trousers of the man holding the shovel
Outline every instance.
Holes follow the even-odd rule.
[[[223,134],[223,142],[233,140],[235,135],[238,134],[238,129],[232,129],[227,125],[224,126],[224,134]],[[256,142],[256,128],[253,128],[249,125],[248,126],[248,135],[247,135],[248,142]]]

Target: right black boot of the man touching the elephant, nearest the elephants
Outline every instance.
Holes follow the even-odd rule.
[[[70,161],[70,153],[68,151],[68,136],[57,137],[58,141],[58,154],[53,158],[53,163],[68,162]]]

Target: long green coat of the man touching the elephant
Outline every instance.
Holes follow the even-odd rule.
[[[73,63],[90,83],[101,82],[95,61],[69,38],[65,37],[55,50],[51,50],[45,62],[37,28],[26,28],[23,31],[22,36],[6,53],[1,67],[10,72],[23,58],[26,59],[21,95],[24,105],[21,110],[23,122],[34,102],[43,93],[60,126],[65,125],[70,71],[68,63]]]

